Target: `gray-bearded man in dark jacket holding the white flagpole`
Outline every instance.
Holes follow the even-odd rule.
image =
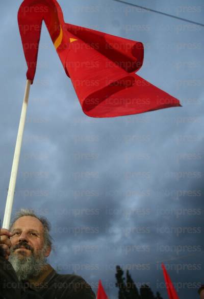
[[[1,229],[0,298],[95,299],[91,287],[74,274],[58,274],[46,263],[52,250],[45,217],[21,209],[9,231]]]

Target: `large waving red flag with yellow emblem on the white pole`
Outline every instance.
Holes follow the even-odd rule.
[[[179,100],[135,74],[143,44],[64,22],[56,0],[24,0],[18,25],[33,82],[44,20],[83,111],[90,117],[116,117],[181,106]]]

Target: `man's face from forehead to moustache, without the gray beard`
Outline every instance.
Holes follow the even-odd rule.
[[[37,254],[44,245],[43,225],[35,217],[23,216],[18,218],[11,229],[13,236],[10,238],[15,254],[30,256],[32,252]],[[49,251],[45,252],[45,257]]]

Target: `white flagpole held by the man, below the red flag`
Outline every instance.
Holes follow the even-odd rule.
[[[20,149],[21,149],[21,144],[22,144],[23,130],[24,130],[25,118],[26,118],[27,107],[28,107],[30,86],[31,86],[31,81],[27,80],[26,86],[25,86],[23,103],[22,103],[22,110],[21,110],[21,115],[20,115],[18,134],[17,134],[17,139],[16,139],[16,147],[15,147],[15,152],[14,152],[14,157],[13,157],[13,165],[12,165],[12,169],[11,169],[11,176],[10,176],[9,190],[8,190],[7,201],[6,201],[6,208],[5,208],[5,213],[4,213],[3,228],[6,228],[6,229],[9,229],[9,226],[10,226],[13,198],[14,198],[15,186],[16,186],[16,177],[17,177],[18,164],[19,164],[19,158],[20,158]]]

